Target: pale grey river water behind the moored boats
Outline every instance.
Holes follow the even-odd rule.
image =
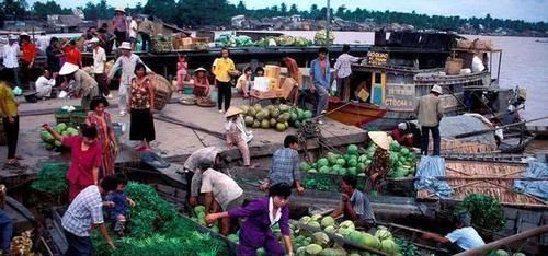
[[[217,32],[216,35],[227,32]],[[281,31],[286,35],[304,36],[313,39],[315,31]],[[335,44],[373,44],[373,32],[334,32]],[[473,36],[470,39],[490,39],[494,47],[502,49],[502,63],[499,84],[501,88],[527,89],[526,107],[522,115],[526,119],[548,116],[548,43],[537,43],[534,37]],[[496,70],[496,55],[493,54],[493,68]],[[495,74],[493,74],[495,75]],[[548,125],[548,120],[534,123]]]

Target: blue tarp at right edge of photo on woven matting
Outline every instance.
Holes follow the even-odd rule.
[[[548,178],[548,165],[532,161],[522,177]],[[514,181],[513,189],[548,200],[548,181]]]

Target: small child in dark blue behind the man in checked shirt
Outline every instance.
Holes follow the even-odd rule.
[[[107,205],[110,205],[110,207],[106,208],[106,214],[114,224],[114,232],[122,236],[124,235],[127,221],[127,205],[129,203],[130,207],[135,207],[135,202],[127,197],[124,191],[124,188],[127,185],[127,177],[124,174],[116,174],[116,177],[123,182],[118,185],[116,190],[106,195],[105,199],[106,202],[109,202]]]

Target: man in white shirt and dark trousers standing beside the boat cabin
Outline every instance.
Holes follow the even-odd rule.
[[[343,46],[343,54],[336,58],[335,62],[335,78],[336,78],[336,94],[343,101],[350,100],[350,80],[352,74],[352,63],[357,62],[359,59],[349,55],[350,46]]]

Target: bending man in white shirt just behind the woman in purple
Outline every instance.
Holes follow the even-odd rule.
[[[202,160],[199,170],[202,171],[202,186],[199,191],[204,194],[205,212],[229,211],[243,203],[243,190],[228,175],[212,168],[213,162]],[[220,222],[220,233],[228,235],[230,232],[230,219],[222,218]]]

